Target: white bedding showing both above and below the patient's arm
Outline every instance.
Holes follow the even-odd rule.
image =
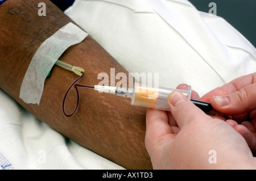
[[[132,73],[200,95],[256,70],[256,49],[224,19],[186,0],[83,1],[65,13]],[[63,137],[0,89],[1,169],[124,169]]]

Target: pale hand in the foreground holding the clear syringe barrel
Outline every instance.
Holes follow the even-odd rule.
[[[245,139],[180,92],[168,97],[171,113],[148,108],[145,144],[154,169],[255,169]]]

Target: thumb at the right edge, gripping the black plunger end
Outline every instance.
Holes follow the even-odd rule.
[[[213,96],[213,108],[227,115],[240,115],[256,110],[256,83],[229,95]]]

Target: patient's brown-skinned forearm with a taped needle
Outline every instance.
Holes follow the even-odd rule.
[[[79,110],[74,116],[65,117],[61,110],[63,96],[77,75],[57,66],[46,79],[39,106],[26,104],[19,98],[24,74],[36,50],[59,28],[72,22],[50,1],[43,1],[46,16],[39,16],[39,2],[42,0],[8,0],[0,6],[1,89],[39,120],[85,148],[127,169],[151,169],[144,148],[144,108],[131,106],[129,100],[119,96],[79,89]],[[68,48],[60,59],[85,69],[85,77],[79,84],[97,85],[97,75],[101,72],[110,75],[110,68],[128,75],[90,36]],[[72,112],[75,103],[76,94],[71,91],[66,110]]]

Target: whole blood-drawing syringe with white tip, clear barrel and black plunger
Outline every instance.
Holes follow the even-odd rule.
[[[150,108],[164,110],[164,111],[170,111],[170,108],[167,102],[168,95],[172,91],[180,91],[188,99],[190,99],[191,102],[193,102],[197,107],[199,107],[208,115],[212,115],[212,116],[223,115],[222,113],[214,110],[210,103],[191,99],[191,86],[188,86],[188,90],[180,90],[180,89],[169,89],[164,87],[148,86],[148,85],[143,85],[142,83],[135,82],[134,87],[132,89],[126,89],[123,87],[95,85],[94,90],[130,98],[131,104],[135,106],[150,107]]]

